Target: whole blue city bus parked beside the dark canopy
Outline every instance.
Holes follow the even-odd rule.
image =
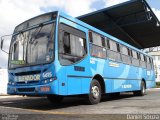
[[[42,95],[53,103],[85,95],[97,104],[103,94],[143,96],[155,86],[151,56],[58,11],[16,26],[8,55],[10,95]]]

